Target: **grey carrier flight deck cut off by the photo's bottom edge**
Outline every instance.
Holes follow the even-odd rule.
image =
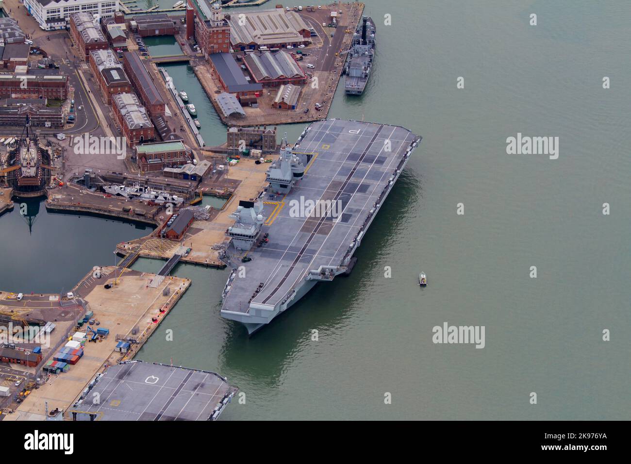
[[[98,420],[215,420],[237,391],[216,372],[132,360],[108,367],[70,411]],[[107,401],[93,405],[94,393]]]

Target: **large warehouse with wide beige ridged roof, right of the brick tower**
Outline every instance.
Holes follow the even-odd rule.
[[[284,47],[309,44],[309,26],[294,11],[282,8],[264,9],[232,15],[230,45],[236,50],[257,49],[261,46]]]

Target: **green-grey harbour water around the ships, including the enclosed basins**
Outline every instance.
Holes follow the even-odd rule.
[[[339,86],[329,116],[400,124],[423,142],[355,270],[248,338],[219,315],[228,272],[179,265],[172,274],[192,286],[138,357],[226,376],[245,404],[233,401],[224,420],[631,419],[631,5],[365,3],[379,34],[372,76],[359,98]],[[204,140],[225,141],[192,71],[168,73],[198,107]],[[303,128],[279,132],[295,140]],[[517,133],[558,136],[558,159],[508,155],[506,139]],[[35,291],[69,287],[109,264],[115,241],[142,235],[61,215],[45,229],[36,222],[41,235],[15,235],[16,211],[0,217],[12,238],[0,242],[0,258],[15,263],[0,269],[3,289],[21,280]],[[15,240],[38,259],[9,255]],[[445,322],[485,326],[485,348],[434,344],[432,328]]]

